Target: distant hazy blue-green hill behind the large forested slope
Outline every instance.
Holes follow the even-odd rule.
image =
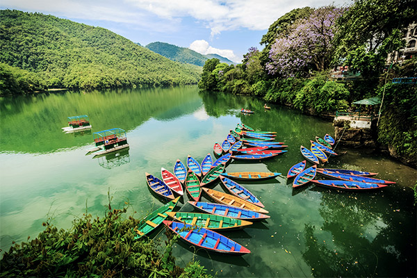
[[[228,65],[235,64],[231,60],[217,54],[203,55],[199,54],[194,50],[185,47],[177,47],[176,45],[167,44],[165,42],[152,42],[150,44],[147,44],[146,47],[156,52],[157,54],[161,54],[162,56],[171,60],[180,63],[199,65],[200,67],[204,66],[206,60],[211,58],[218,58],[220,60],[220,63],[227,63]]]

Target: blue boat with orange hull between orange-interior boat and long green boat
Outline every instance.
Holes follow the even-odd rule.
[[[229,206],[227,204],[217,204],[208,202],[193,202],[188,203],[199,211],[210,213],[213,215],[227,216],[229,218],[236,218],[241,220],[259,221],[270,218],[270,215],[251,211],[250,209],[237,208],[236,206]]]

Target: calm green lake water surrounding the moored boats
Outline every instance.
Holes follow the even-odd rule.
[[[293,190],[288,169],[304,160],[300,145],[325,133],[331,122],[281,106],[263,110],[259,99],[199,92],[195,86],[146,90],[56,92],[0,98],[0,236],[2,252],[13,241],[34,238],[49,220],[69,228],[87,209],[103,216],[108,192],[113,208],[131,204],[140,218],[163,204],[147,187],[145,172],[161,177],[188,154],[201,162],[229,129],[243,123],[277,131],[288,152],[262,163],[232,161],[226,172],[281,172],[263,182],[240,182],[254,193],[270,219],[222,234],[251,254],[234,257],[195,250],[179,242],[177,263],[194,259],[218,277],[415,277],[416,206],[411,186],[416,170],[358,149],[332,157],[327,167],[379,172],[396,181],[369,193],[337,192],[313,185]],[[243,115],[240,108],[255,111]],[[67,117],[86,114],[92,131],[65,134]],[[92,132],[120,127],[129,150],[92,158]],[[215,190],[223,190],[218,184]],[[181,199],[176,210],[193,211]],[[203,201],[208,201],[203,197]],[[162,236],[163,229],[152,234]]]

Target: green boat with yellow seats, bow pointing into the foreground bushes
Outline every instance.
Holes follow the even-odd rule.
[[[157,208],[152,213],[149,213],[145,218],[140,220],[138,226],[133,229],[133,232],[136,234],[135,239],[139,239],[142,236],[149,234],[151,231],[154,231],[162,222],[167,218],[167,213],[172,212],[174,207],[177,205],[180,197],[173,199],[171,202]]]

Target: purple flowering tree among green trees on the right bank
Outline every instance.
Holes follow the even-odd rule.
[[[333,6],[318,8],[310,17],[297,20],[290,31],[281,34],[272,44],[268,74],[284,77],[307,76],[310,70],[325,70],[334,53],[336,19],[343,9]]]

